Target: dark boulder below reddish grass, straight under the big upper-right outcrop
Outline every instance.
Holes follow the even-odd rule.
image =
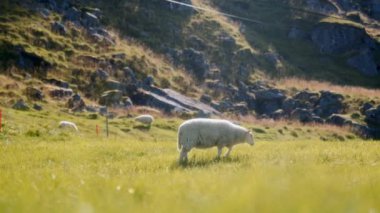
[[[344,110],[343,100],[341,94],[333,93],[330,91],[321,91],[321,97],[314,113],[320,117],[328,117],[332,114],[340,114]]]

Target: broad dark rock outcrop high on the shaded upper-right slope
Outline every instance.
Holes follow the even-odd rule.
[[[322,54],[344,53],[359,49],[371,38],[364,30],[336,24],[322,24],[313,30],[311,38]]]

